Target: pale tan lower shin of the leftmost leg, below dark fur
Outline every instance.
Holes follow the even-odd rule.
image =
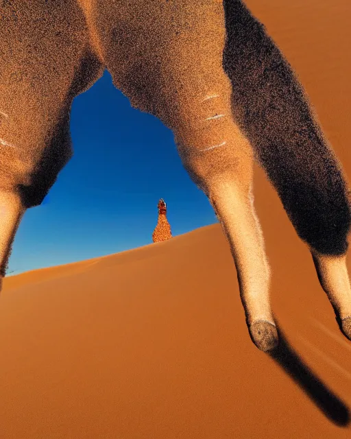
[[[25,208],[18,194],[8,191],[0,192],[0,291],[14,235],[24,212]]]

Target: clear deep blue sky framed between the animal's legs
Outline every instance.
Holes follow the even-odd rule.
[[[217,222],[182,167],[171,130],[132,108],[107,71],[75,98],[71,137],[73,158],[21,222],[11,275],[152,244],[159,198],[173,236]]]

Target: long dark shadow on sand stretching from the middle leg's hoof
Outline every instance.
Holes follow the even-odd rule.
[[[350,423],[348,406],[312,372],[289,346],[278,327],[280,342],[268,355],[282,367],[332,423],[346,427]]]

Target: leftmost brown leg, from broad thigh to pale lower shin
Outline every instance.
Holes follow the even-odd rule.
[[[40,205],[71,158],[72,101],[104,71],[77,2],[2,3],[0,283],[25,209]]]

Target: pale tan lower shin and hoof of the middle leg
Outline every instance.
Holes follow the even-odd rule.
[[[270,351],[278,344],[278,333],[269,300],[269,263],[252,192],[229,179],[218,186],[210,183],[208,191],[237,267],[252,340],[262,351]]]

